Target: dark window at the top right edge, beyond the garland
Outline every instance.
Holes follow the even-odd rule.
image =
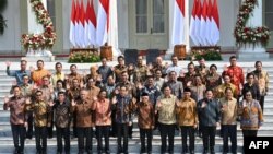
[[[273,31],[273,0],[265,0],[265,25]]]

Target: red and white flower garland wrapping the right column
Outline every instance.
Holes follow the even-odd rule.
[[[246,27],[249,15],[257,4],[257,0],[245,0],[239,9],[239,14],[234,31],[236,43],[239,45],[246,43],[256,44],[260,42],[261,45],[266,46],[270,39],[270,29],[266,26]]]

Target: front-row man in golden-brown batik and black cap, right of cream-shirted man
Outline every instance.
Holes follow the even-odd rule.
[[[197,103],[191,98],[191,90],[183,90],[183,98],[179,100],[176,108],[178,123],[182,134],[182,153],[194,154],[194,129],[198,127]],[[189,135],[190,151],[187,146],[187,137]]]

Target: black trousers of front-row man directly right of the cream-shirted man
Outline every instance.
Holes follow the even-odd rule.
[[[194,128],[193,126],[182,126],[182,152],[188,152],[187,138],[189,137],[190,152],[194,151]]]

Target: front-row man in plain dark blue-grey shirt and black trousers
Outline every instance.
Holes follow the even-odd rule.
[[[198,112],[200,114],[200,122],[203,131],[203,154],[207,153],[209,141],[211,154],[215,154],[215,134],[216,127],[219,126],[219,104],[213,98],[212,90],[205,91],[205,98],[198,103]],[[210,138],[210,139],[209,139]]]

